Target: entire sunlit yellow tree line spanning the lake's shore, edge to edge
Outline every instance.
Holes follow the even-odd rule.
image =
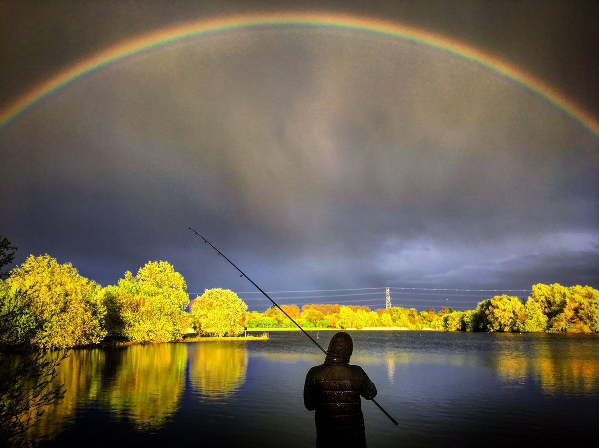
[[[137,274],[125,272],[116,285],[81,276],[71,263],[30,255],[0,281],[0,339],[31,339],[42,348],[95,345],[107,337],[132,342],[183,339],[189,328],[201,336],[238,336],[248,328],[294,324],[277,308],[247,312],[229,289],[207,289],[190,312],[183,276],[167,261],[149,261]],[[499,295],[476,309],[438,312],[402,307],[371,310],[340,304],[282,305],[305,328],[402,327],[447,331],[596,332],[599,291],[591,287],[534,285],[530,297]],[[7,320],[8,319],[8,320]],[[12,320],[10,320],[12,319]],[[9,322],[10,321],[10,322]],[[11,331],[7,329],[11,328]],[[4,330],[3,330],[4,329]],[[1,341],[0,341],[1,342]]]

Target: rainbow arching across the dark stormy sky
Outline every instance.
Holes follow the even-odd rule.
[[[453,41],[446,36],[423,31],[397,23],[386,22],[378,19],[368,19],[356,16],[340,16],[321,13],[269,13],[248,14],[243,16],[228,16],[217,19],[200,20],[198,22],[186,23],[163,29],[158,32],[130,39],[104,51],[83,59],[72,66],[60,71],[54,77],[35,87],[7,108],[0,111],[0,127],[5,126],[22,114],[26,109],[35,105],[44,97],[60,89],[63,86],[83,77],[84,75],[102,68],[105,65],[132,56],[137,53],[160,47],[171,42],[186,38],[196,38],[218,32],[229,32],[240,29],[265,28],[268,26],[304,26],[343,29],[347,31],[368,32],[383,36],[404,39],[417,42],[438,50],[456,54],[471,62],[483,65],[491,71],[497,72],[503,77],[514,81],[531,92],[543,97],[547,102],[556,106],[586,127],[591,133],[599,138],[599,121],[580,109],[556,90],[547,86],[537,78],[516,68],[497,57],[483,53],[477,48],[462,42]]]

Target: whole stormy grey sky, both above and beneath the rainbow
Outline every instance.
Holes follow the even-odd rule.
[[[0,1],[0,110],[147,32],[301,10],[449,36],[599,116],[597,2],[246,3]],[[102,285],[167,260],[189,291],[253,291],[193,227],[266,291],[599,287],[597,136],[496,72],[403,39],[278,27],[174,42],[46,97],[0,128],[0,154],[16,261],[48,253]],[[494,295],[426,294],[392,300]],[[282,303],[306,301],[385,303],[383,289]]]

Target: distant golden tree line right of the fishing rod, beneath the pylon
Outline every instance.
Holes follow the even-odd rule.
[[[599,331],[599,291],[580,285],[537,284],[527,300],[497,295],[476,309],[456,311],[441,307],[420,311],[391,307],[372,311],[367,306],[307,304],[281,306],[304,328],[401,327],[441,331],[518,331],[527,333],[596,333]],[[277,308],[246,313],[249,328],[286,328],[292,322]]]

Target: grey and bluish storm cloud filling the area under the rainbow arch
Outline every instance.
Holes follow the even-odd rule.
[[[0,132],[2,231],[103,284],[150,259],[193,289],[233,282],[211,255],[198,269],[190,225],[273,288],[599,282],[596,253],[571,264],[581,248],[538,237],[597,235],[597,140],[431,48],[211,36],[95,72]],[[501,261],[514,241],[525,253]]]

